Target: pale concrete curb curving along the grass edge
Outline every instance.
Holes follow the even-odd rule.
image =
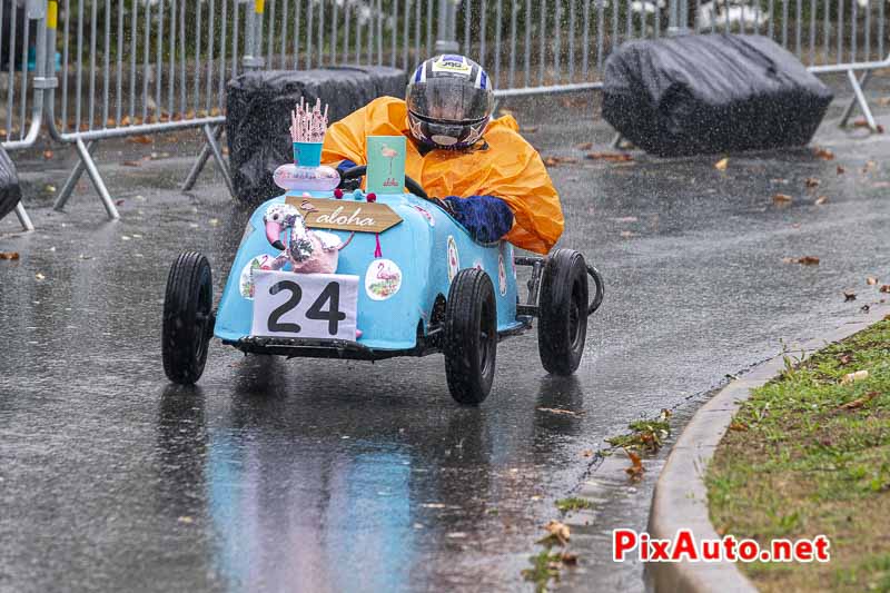
[[[890,305],[873,304],[868,314],[846,319],[828,334],[789,346],[792,356],[802,352],[809,357],[828,344],[843,339],[880,322]],[[722,388],[692,417],[676,441],[655,484],[649,534],[653,538],[673,538],[678,530],[689,528],[696,540],[719,538],[708,513],[704,470],[729,428],[739,405],[751,389],[760,387],[784,367],[775,356]],[[646,582],[655,591],[702,593],[711,591],[755,592],[756,587],[734,563],[652,563],[646,565]]]

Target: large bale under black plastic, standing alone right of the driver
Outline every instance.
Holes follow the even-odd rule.
[[[832,93],[760,36],[630,41],[605,67],[603,117],[622,136],[671,157],[802,146]]]

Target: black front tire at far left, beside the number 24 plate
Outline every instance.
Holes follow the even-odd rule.
[[[180,254],[167,277],[161,357],[167,378],[191,385],[204,373],[214,330],[214,283],[201,254]]]

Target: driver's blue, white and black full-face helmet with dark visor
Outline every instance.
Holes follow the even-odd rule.
[[[438,148],[476,144],[494,107],[488,75],[464,56],[429,58],[414,71],[405,95],[412,136]]]

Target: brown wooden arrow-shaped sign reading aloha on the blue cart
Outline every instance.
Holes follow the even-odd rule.
[[[288,196],[285,201],[299,208],[306,226],[310,228],[383,233],[402,223],[402,217],[395,210],[379,202],[296,196]]]

